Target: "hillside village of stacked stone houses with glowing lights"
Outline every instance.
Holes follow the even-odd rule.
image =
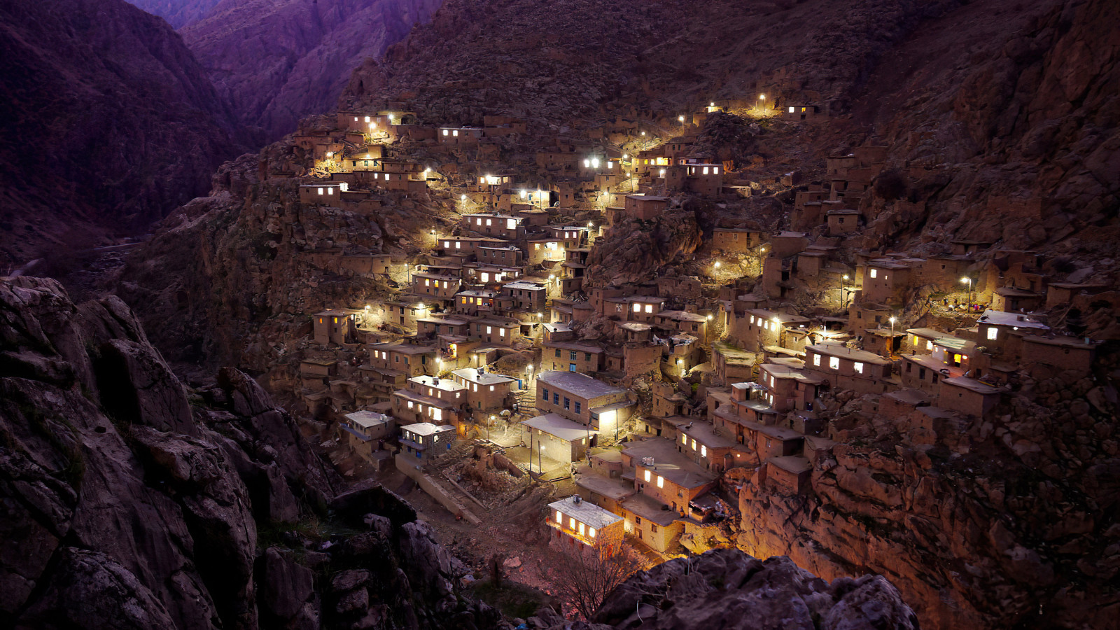
[[[375,214],[428,198],[447,211],[416,237],[420,251],[306,252],[393,289],[305,314],[292,395],[330,427],[336,462],[407,475],[456,521],[494,518],[483,489],[531,480],[554,488],[530,508],[553,547],[624,536],[651,558],[702,552],[731,544],[745,480],[806,491],[849,438],[832,421],[843,401],[915,434],[964,430],[1024,370],[1090,371],[1099,342],[1072,334],[1075,314],[1058,330],[1046,313],[1107,287],[1055,280],[1040,256],[991,242],[921,254],[856,245],[875,220],[860,200],[884,147],[827,157],[812,177],[752,180],[698,145],[711,117],[827,124],[825,105],[760,94],[619,114],[579,137],[417,109],[338,112],[293,137],[306,168],[261,172],[301,172],[307,207]],[[526,136],[531,159],[500,159]],[[791,202],[778,229],[735,217],[737,203],[777,194]],[[613,234],[692,200],[728,217],[701,234],[693,274],[598,277]],[[468,481],[464,461],[506,481]]]

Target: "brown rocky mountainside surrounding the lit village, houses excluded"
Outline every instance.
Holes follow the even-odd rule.
[[[1077,281],[1116,286],[1107,250],[1117,241],[1111,4],[806,1],[737,12],[726,2],[511,1],[484,10],[452,0],[383,62],[358,68],[339,104],[405,101],[429,124],[510,112],[531,129],[572,136],[657,111],[669,137],[679,128],[664,114],[678,106],[749,101],[763,90],[778,102],[813,98],[834,108],[827,121],[755,126],[735,159],[763,165],[772,179],[792,170],[813,179],[823,178],[824,155],[885,145],[902,186],[872,187],[861,203],[875,219],[846,247],[1030,247],[1064,260],[1061,274],[1077,268],[1071,261],[1091,262]],[[584,19],[592,11],[596,19]],[[554,28],[533,30],[539,24]],[[1063,71],[1083,57],[1100,63]],[[715,136],[728,118],[699,131]],[[409,159],[429,158],[422,146],[402,145],[394,149]],[[722,158],[726,145],[716,138],[712,156]],[[280,142],[261,160],[226,165],[212,196],[170,217],[131,263],[121,294],[159,323],[169,352],[239,361],[290,383],[301,316],[330,304],[361,308],[383,288],[310,252],[416,254],[431,226],[457,217],[440,212],[451,197],[435,188],[366,214],[300,205],[291,180],[268,177],[270,168],[306,173],[298,154]],[[476,161],[486,158],[460,160]],[[758,196],[750,216],[694,204],[641,229],[612,229],[589,275],[641,281],[670,266],[691,274],[684,259],[704,247],[716,219],[783,226],[788,200]],[[736,544],[790,555],[825,577],[887,575],[931,628],[1108,627],[1120,569],[1116,370],[1113,360],[1090,378],[1032,379],[998,421],[932,423],[913,435],[875,400],[830,400],[827,411],[849,438],[813,470],[806,497],[739,480]]]

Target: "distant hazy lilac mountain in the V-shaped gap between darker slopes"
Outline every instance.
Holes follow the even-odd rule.
[[[333,110],[353,70],[439,0],[224,0],[180,30],[237,118],[268,140]]]

